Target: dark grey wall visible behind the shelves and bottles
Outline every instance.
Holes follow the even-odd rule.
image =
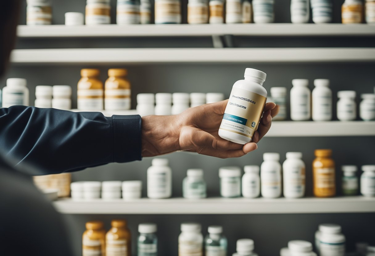
[[[75,0],[54,1],[54,23],[63,23],[63,13],[67,11],[84,11],[84,2]],[[335,0],[335,22],[340,22],[340,6],[343,0]],[[112,1],[115,6],[115,1]],[[276,21],[289,22],[289,1],[277,0]],[[114,9],[114,8],[113,8]],[[186,9],[184,9],[186,11]],[[24,8],[20,24],[24,24]],[[113,15],[114,17],[114,15]],[[240,37],[234,41],[239,47],[301,47],[301,46],[374,46],[374,37],[369,38],[252,38]],[[85,47],[211,47],[210,38],[169,38],[169,39],[33,39],[21,40],[17,48],[85,48]],[[7,77],[25,77],[30,88],[30,102],[34,101],[36,85],[68,84],[75,91],[80,79],[82,65],[38,65],[12,66],[0,80],[0,87],[5,85]],[[90,65],[101,70],[101,79],[106,79],[106,71],[113,66]],[[119,67],[119,66],[116,66]],[[122,66],[121,66],[122,67]],[[140,92],[224,92],[229,96],[231,86],[236,80],[242,79],[246,67],[254,67],[267,73],[264,84],[268,90],[272,86],[291,88],[291,79],[329,78],[332,82],[334,101],[339,90],[354,89],[357,93],[373,92],[375,80],[374,63],[341,63],[341,64],[179,64],[179,65],[133,65],[124,66],[129,69],[129,79],[132,82],[133,107],[135,95]],[[76,100],[74,93],[74,102]],[[75,104],[75,103],[74,103]],[[336,116],[335,116],[336,118]],[[205,170],[208,185],[208,195],[219,194],[218,168],[224,165],[246,164],[260,165],[264,152],[281,153],[281,161],[285,160],[288,151],[301,151],[307,165],[307,195],[312,195],[311,162],[314,159],[314,149],[332,148],[337,166],[342,164],[374,164],[374,137],[332,137],[332,138],[264,138],[259,148],[240,159],[214,159],[207,156],[188,153],[173,153],[166,157],[171,162],[173,170],[173,196],[181,196],[181,183],[186,176],[187,168],[201,167]],[[141,162],[127,164],[108,164],[102,167],[89,168],[73,174],[77,180],[142,180],[145,184],[146,169],[151,164],[150,158]],[[341,177],[337,168],[338,177]],[[339,184],[339,179],[338,179]],[[145,196],[145,189],[143,189]],[[152,212],[152,209],[150,209]],[[314,232],[319,223],[335,222],[343,226],[348,238],[347,247],[353,250],[357,241],[367,241],[375,244],[375,214],[255,214],[255,215],[66,215],[69,237],[77,255],[81,252],[81,235],[84,223],[88,220],[105,221],[109,228],[110,220],[126,218],[133,233],[135,246],[136,226],[140,222],[156,222],[160,240],[159,255],[177,255],[177,237],[179,224],[184,221],[202,223],[204,234],[208,225],[223,225],[225,235],[229,240],[229,253],[235,250],[239,238],[253,238],[256,251],[262,256],[275,256],[281,247],[292,239],[313,241]],[[135,255],[133,249],[133,254]]]

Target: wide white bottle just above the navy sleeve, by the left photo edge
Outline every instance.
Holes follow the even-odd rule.
[[[23,78],[8,78],[3,88],[3,107],[28,106],[27,81]]]

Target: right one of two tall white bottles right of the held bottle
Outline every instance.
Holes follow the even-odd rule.
[[[332,120],[332,91],[329,79],[315,79],[312,91],[312,120]]]

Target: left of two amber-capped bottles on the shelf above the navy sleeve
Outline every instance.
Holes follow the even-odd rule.
[[[99,80],[99,70],[84,68],[81,70],[82,78],[78,82],[78,109],[84,111],[103,110],[103,82]]]

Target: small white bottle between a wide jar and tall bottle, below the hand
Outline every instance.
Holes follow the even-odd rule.
[[[260,195],[260,168],[258,165],[245,165],[242,176],[242,196],[256,198]]]

